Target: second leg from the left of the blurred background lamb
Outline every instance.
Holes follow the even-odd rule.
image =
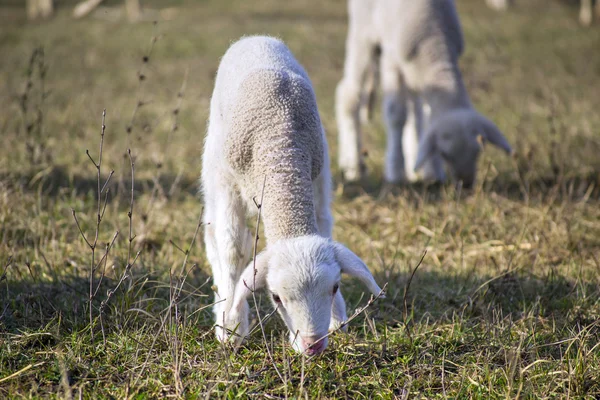
[[[406,180],[402,134],[407,119],[407,90],[398,68],[383,53],[381,60],[383,118],[387,133],[384,178],[389,183]]]

